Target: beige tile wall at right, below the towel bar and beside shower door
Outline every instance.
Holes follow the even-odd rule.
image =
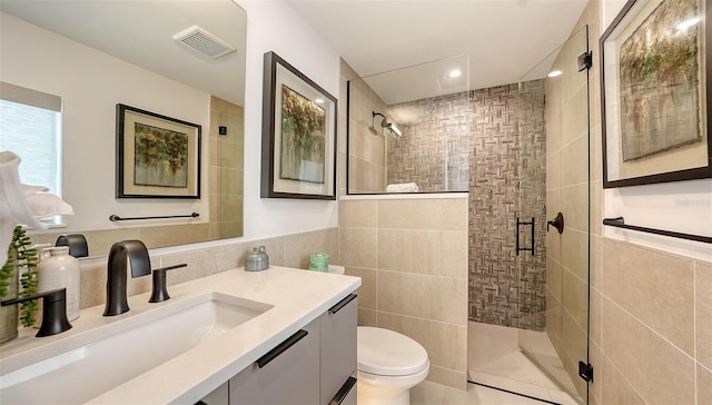
[[[591,27],[591,404],[712,404],[712,263],[603,236],[600,0]],[[577,29],[575,29],[577,30]]]

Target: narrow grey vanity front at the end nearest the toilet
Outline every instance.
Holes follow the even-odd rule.
[[[352,294],[320,317],[320,404],[328,404],[356,371],[357,302],[356,295]]]

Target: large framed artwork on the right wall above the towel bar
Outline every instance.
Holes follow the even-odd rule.
[[[601,37],[604,188],[712,177],[704,13],[630,0]]]

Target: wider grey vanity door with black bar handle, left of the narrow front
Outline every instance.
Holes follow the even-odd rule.
[[[230,378],[230,404],[318,404],[319,332],[317,318]]]

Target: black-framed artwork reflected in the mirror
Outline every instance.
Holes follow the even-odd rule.
[[[196,124],[116,106],[116,198],[200,198]]]

